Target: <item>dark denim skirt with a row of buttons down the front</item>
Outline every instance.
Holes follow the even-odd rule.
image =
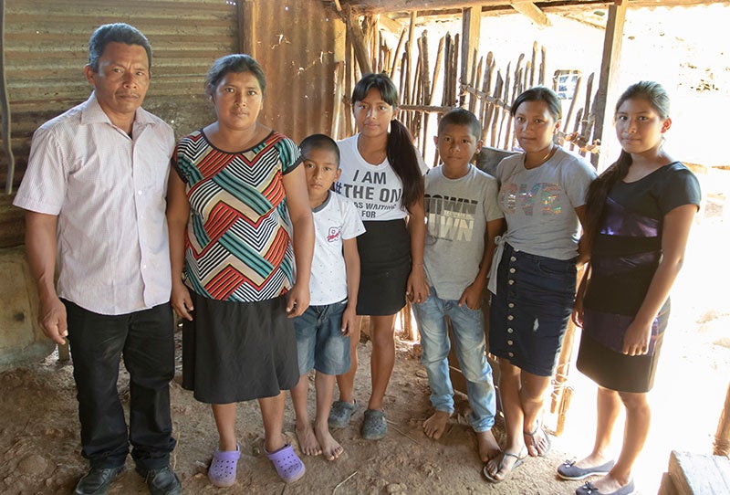
[[[516,250],[508,243],[489,310],[489,353],[527,373],[554,373],[576,292],[576,260]]]

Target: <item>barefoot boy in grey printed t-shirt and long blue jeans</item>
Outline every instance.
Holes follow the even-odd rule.
[[[482,146],[481,131],[474,114],[464,109],[449,111],[439,122],[435,142],[442,164],[425,176],[423,262],[430,293],[422,303],[413,304],[413,311],[435,408],[423,422],[424,433],[438,439],[454,413],[448,316],[472,407],[470,423],[479,457],[486,462],[499,453],[499,447],[491,431],[495,385],[486,361],[482,301],[495,236],[502,231],[504,218],[497,205],[495,178],[470,163]]]

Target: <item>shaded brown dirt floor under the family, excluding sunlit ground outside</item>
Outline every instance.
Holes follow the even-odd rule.
[[[307,474],[286,486],[262,452],[263,428],[255,403],[239,408],[237,431],[243,455],[238,479],[230,489],[215,489],[205,475],[217,437],[208,406],[197,403],[179,385],[172,383],[172,416],[178,446],[173,464],[186,493],[564,493],[578,482],[559,482],[553,472],[564,457],[555,448],[548,458],[529,459],[509,481],[488,485],[481,475],[476,439],[465,416],[468,403],[457,399],[452,426],[440,441],[422,434],[422,420],[430,414],[428,381],[412,348],[399,346],[398,363],[386,398],[389,434],[379,442],[359,435],[360,414],[352,425],[335,437],[345,453],[335,462],[305,457]],[[360,358],[367,363],[370,343],[360,345]],[[7,494],[69,493],[86,469],[78,454],[78,419],[71,366],[54,356],[12,372],[0,374],[3,401],[0,405],[0,492]],[[120,391],[129,399],[126,374]],[[369,374],[360,373],[356,393],[369,391]],[[312,410],[310,413],[314,415]],[[287,402],[285,431],[297,448],[294,415]],[[495,427],[497,438],[501,425]],[[141,479],[128,469],[114,485],[112,494],[146,493]]]

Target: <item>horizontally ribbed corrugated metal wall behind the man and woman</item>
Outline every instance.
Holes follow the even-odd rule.
[[[214,58],[237,46],[235,5],[225,0],[6,0],[5,9],[16,182],[36,127],[89,97],[83,67],[97,26],[127,22],[150,39],[152,80],[144,107],[178,133],[210,121],[204,74]]]

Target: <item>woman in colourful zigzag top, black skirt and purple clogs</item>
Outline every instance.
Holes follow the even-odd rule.
[[[258,400],[278,475],[305,470],[282,436],[283,391],[299,379],[291,318],[308,307],[314,226],[297,144],[257,121],[265,90],[248,55],[214,62],[205,92],[217,120],[178,143],[168,188],[183,387],[212,405],[220,439],[208,478],[220,487],[235,483],[241,401]]]

